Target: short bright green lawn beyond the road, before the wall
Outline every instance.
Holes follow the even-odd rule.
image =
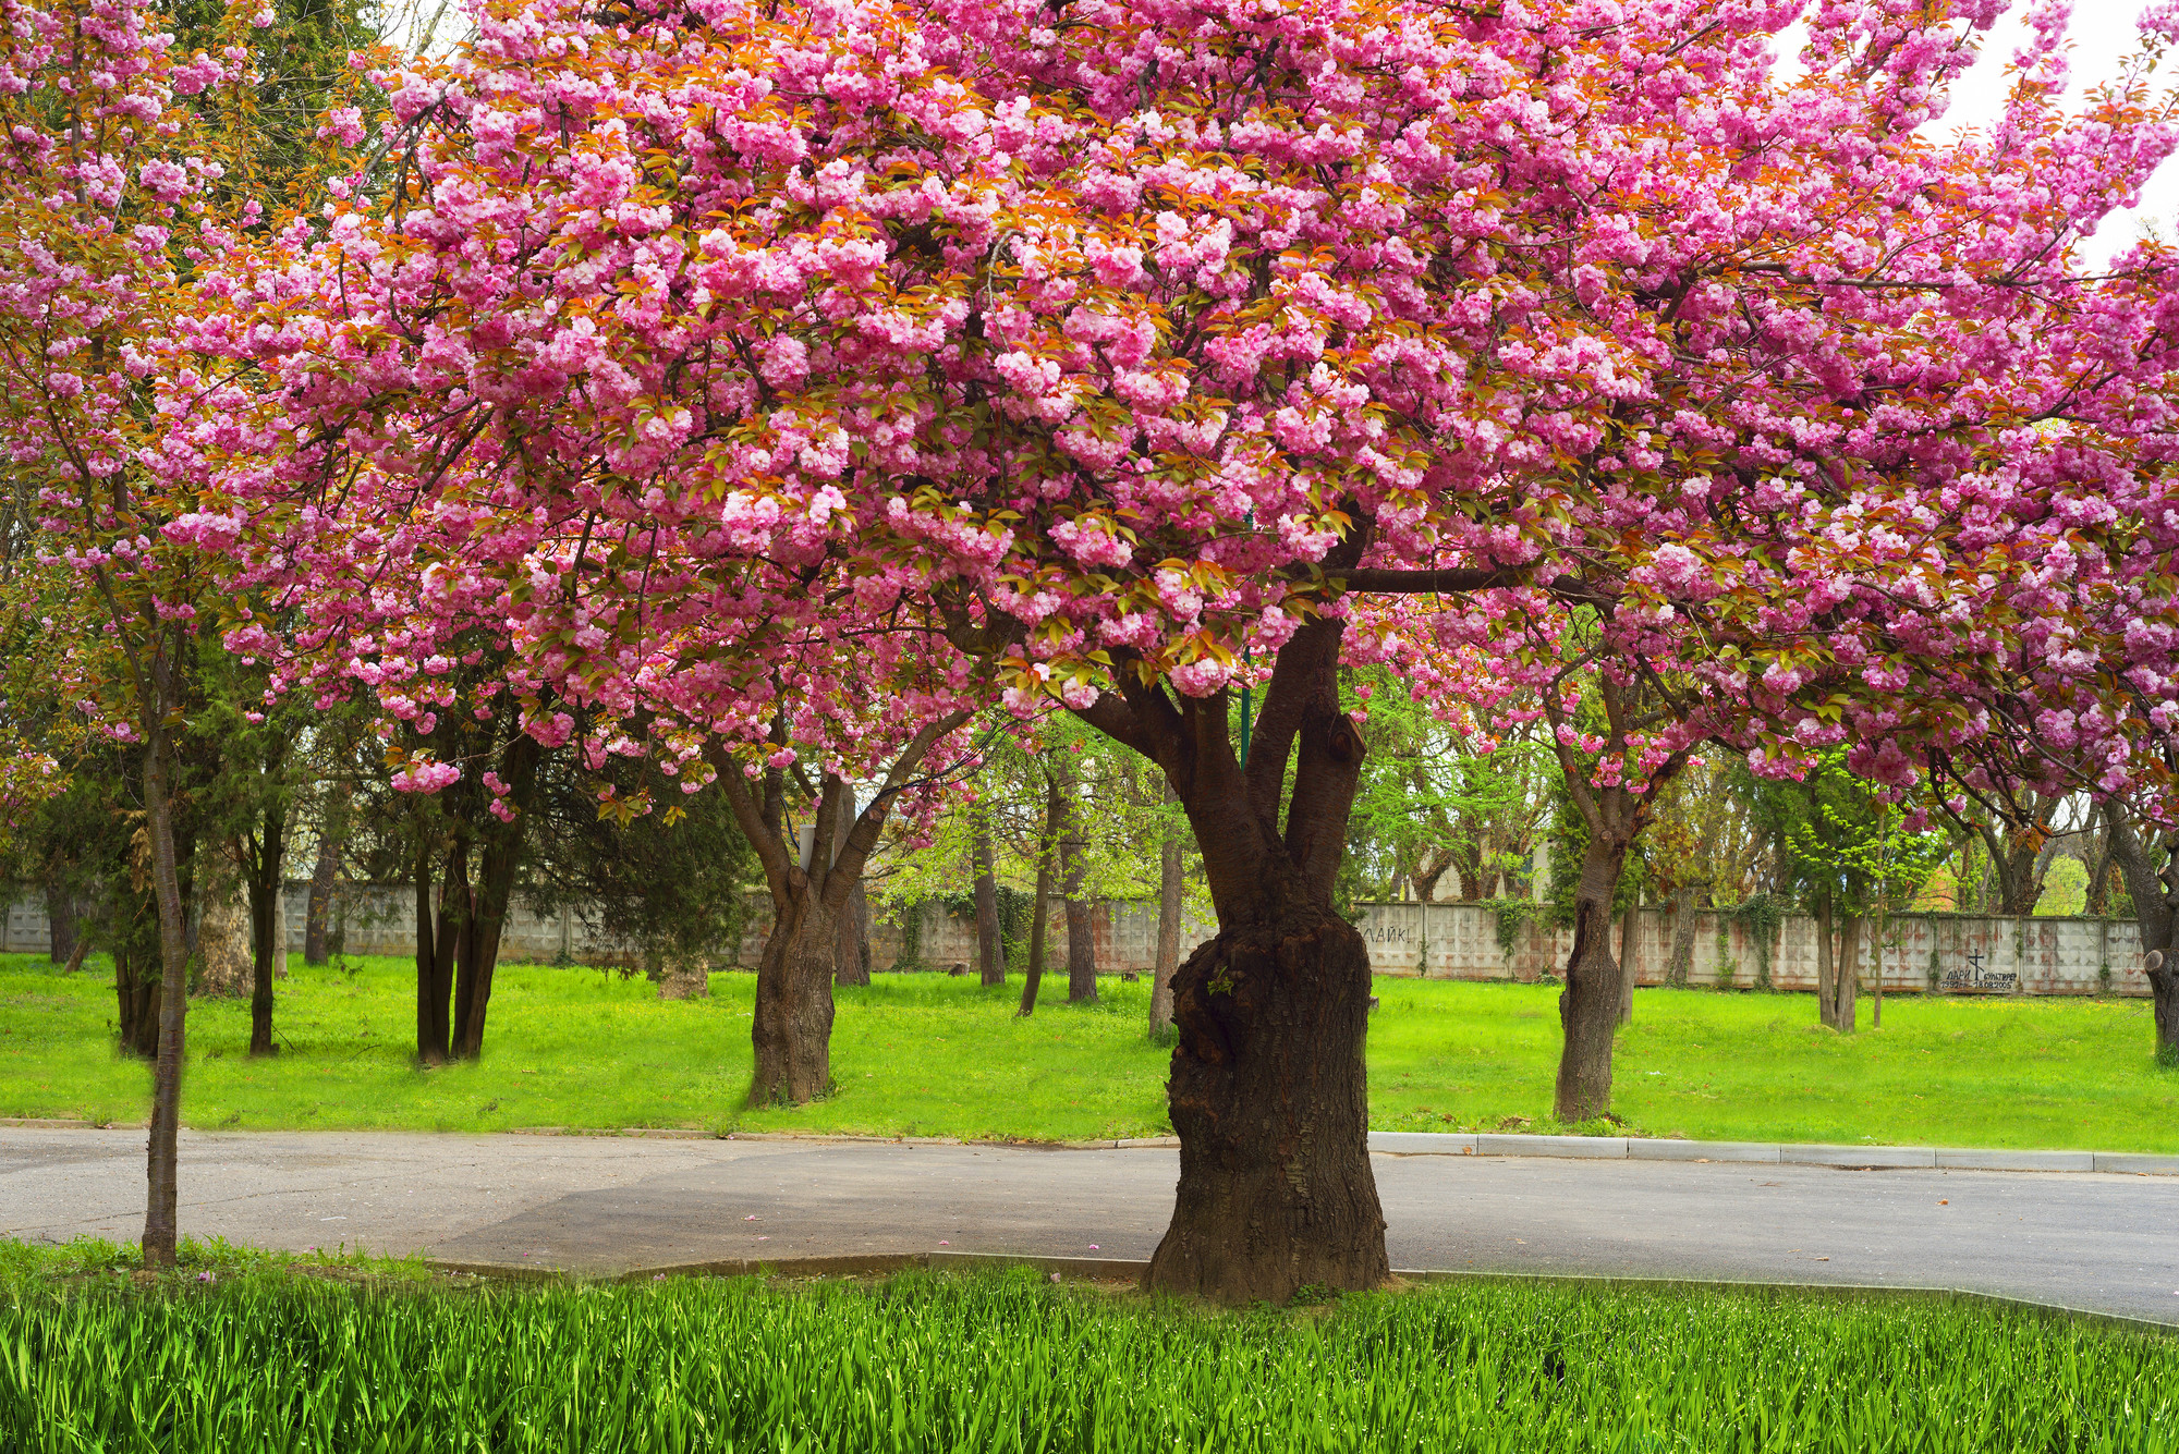
[[[512,964],[477,1064],[412,1064],[405,960],[305,969],[279,986],[281,1053],[248,1060],[248,1003],[190,1006],[183,1114],[196,1128],[512,1130],[532,1125],[802,1130],[1070,1141],[1168,1132],[1168,1051],[1144,1036],[1148,986],[1100,982],[1096,1008],[1048,975],[878,975],[839,990],[837,1093],[743,1110],[752,975],[665,1003],[645,979]],[[1556,990],[1379,979],[1371,1123],[1379,1130],[1556,1130]],[[0,1117],[139,1121],[146,1067],[111,1049],[96,969],[0,956]],[[1863,1003],[1863,1025],[1867,1006]],[[1621,1032],[1626,1130],[1715,1141],[2179,1151],[2179,1073],[2151,1053],[2146,1001],[1894,997],[1883,1032],[1839,1036],[1809,995],[1643,990]],[[1597,1128],[1588,1128],[1597,1130]]]

